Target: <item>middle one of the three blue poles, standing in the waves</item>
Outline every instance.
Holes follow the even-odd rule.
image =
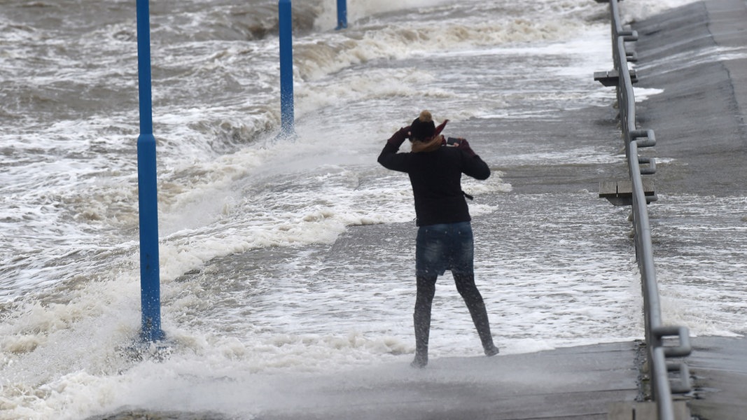
[[[291,0],[278,3],[280,31],[280,127],[282,135],[294,135],[293,109],[293,12]]]

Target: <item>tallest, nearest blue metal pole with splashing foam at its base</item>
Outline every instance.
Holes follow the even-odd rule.
[[[140,136],[137,137],[137,188],[140,206],[140,339],[164,339],[161,331],[161,279],[158,270],[158,185],[150,75],[149,0],[137,0],[137,81]]]

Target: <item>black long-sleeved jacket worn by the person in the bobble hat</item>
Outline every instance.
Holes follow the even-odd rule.
[[[379,155],[379,164],[410,176],[418,226],[471,220],[462,192],[462,173],[488,179],[490,168],[471,149],[441,146],[432,152],[397,153],[403,130],[395,133]]]

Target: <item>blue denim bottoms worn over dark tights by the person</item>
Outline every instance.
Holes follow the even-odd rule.
[[[471,274],[474,240],[469,222],[420,226],[415,240],[415,275],[436,277],[450,270]]]

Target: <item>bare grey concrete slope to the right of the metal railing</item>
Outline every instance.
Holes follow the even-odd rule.
[[[654,129],[657,190],[744,196],[747,182],[747,2],[700,1],[636,22],[639,82],[663,89],[636,105]],[[703,55],[702,52],[708,52]],[[666,140],[665,140],[666,139]],[[696,337],[685,360],[694,419],[747,419],[747,340]]]

